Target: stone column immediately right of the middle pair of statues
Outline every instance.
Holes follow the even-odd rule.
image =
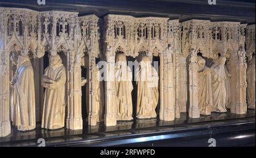
[[[160,54],[160,119],[173,121],[174,109],[174,65],[172,54]]]

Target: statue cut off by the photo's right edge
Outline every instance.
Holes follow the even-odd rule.
[[[247,107],[255,109],[255,55],[247,66]]]

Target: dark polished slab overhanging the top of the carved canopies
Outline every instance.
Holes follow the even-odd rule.
[[[1,7],[22,7],[38,11],[77,11],[80,15],[122,14],[132,16],[164,16],[180,19],[208,19],[212,21],[234,21],[255,23],[255,0],[46,0],[38,5],[37,0],[0,0]]]

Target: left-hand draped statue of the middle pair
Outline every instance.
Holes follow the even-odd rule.
[[[115,91],[117,95],[115,106],[117,107],[117,120],[133,119],[133,74],[127,66],[126,56],[117,54],[115,57]]]

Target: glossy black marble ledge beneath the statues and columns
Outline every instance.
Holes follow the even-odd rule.
[[[250,133],[249,137],[254,136],[255,144],[255,110],[248,110],[247,114],[242,115],[230,112],[213,113],[211,116],[201,116],[196,119],[188,118],[187,113],[181,113],[181,117],[176,118],[175,121],[160,121],[156,118],[135,119],[129,122],[118,121],[117,126],[110,127],[105,127],[103,122],[98,123],[97,126],[87,126],[87,124],[84,122],[84,129],[75,131],[64,128],[45,130],[37,125],[34,131],[20,132],[12,127],[11,135],[0,138],[0,146],[38,146],[39,138],[46,140],[46,146],[123,146],[153,140],[174,140],[195,136],[200,138],[200,135],[201,138],[209,139],[210,135],[215,134],[218,137],[229,132],[247,138],[248,135],[242,134],[244,130],[254,132],[254,135]],[[139,139],[142,137],[143,140]],[[172,144],[175,143],[177,142]]]

